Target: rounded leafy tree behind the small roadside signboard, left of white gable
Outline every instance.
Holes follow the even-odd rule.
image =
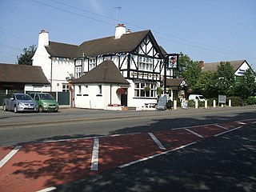
[[[230,65],[230,62],[221,62],[218,66],[218,70],[214,73],[212,82],[212,93],[214,97],[218,94],[224,94],[226,96],[234,95],[234,69]]]

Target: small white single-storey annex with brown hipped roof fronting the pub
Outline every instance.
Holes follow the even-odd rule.
[[[81,78],[74,79],[74,106],[81,108],[102,108],[120,104],[126,106],[127,89],[130,82],[110,59],[105,60]],[[117,90],[124,90],[117,94]],[[120,103],[121,101],[121,103]]]

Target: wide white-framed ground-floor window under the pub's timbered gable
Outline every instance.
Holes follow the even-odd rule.
[[[156,93],[156,85],[153,83],[135,83],[134,97],[138,98],[154,98]]]

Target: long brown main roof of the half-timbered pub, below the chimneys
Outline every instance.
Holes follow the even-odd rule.
[[[150,30],[122,34],[121,38],[115,38],[114,36],[98,38],[82,42],[80,46],[50,42],[49,46],[46,46],[46,50],[50,56],[62,58],[96,57],[101,54],[125,53],[136,49],[147,34],[151,34]],[[152,41],[156,43],[154,37]],[[158,51],[162,54],[166,53],[161,47]]]

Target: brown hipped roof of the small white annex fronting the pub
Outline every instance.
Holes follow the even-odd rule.
[[[81,78],[75,79],[76,83],[117,83],[130,84],[120,73],[118,67],[112,60],[106,60],[84,74]]]

